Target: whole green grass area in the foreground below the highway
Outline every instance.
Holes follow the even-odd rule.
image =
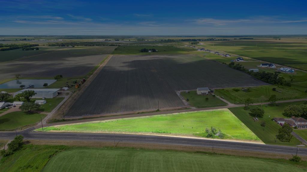
[[[31,144],[24,145],[13,155],[0,160],[0,171],[3,172],[300,172],[306,171],[306,166],[306,162],[291,163],[286,159],[262,159],[205,152]]]

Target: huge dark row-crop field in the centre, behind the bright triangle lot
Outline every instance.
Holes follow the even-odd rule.
[[[264,84],[195,55],[114,55],[66,115],[183,107],[175,90]]]

